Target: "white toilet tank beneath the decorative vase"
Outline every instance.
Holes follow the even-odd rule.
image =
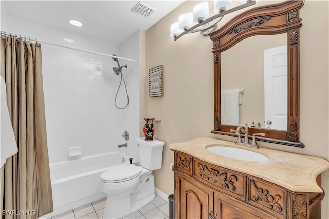
[[[165,142],[159,140],[145,141],[144,139],[144,137],[137,138],[140,165],[149,170],[160,169]]]

